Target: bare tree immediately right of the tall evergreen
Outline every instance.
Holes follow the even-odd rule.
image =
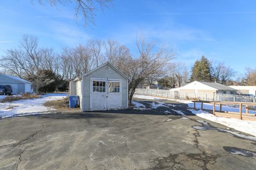
[[[225,84],[235,74],[233,69],[226,67],[223,63],[218,63],[213,66],[213,77],[217,83]]]

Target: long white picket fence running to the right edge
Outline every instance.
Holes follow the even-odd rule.
[[[206,101],[237,101],[255,103],[255,96],[231,95],[231,94],[213,94],[213,93],[195,93],[195,92],[179,92],[161,89],[136,89],[137,95],[159,96],[171,99],[199,99]]]

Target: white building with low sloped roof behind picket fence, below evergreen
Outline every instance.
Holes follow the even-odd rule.
[[[172,89],[175,90],[175,89]],[[194,81],[177,88],[179,92],[236,94],[236,89],[220,83]]]

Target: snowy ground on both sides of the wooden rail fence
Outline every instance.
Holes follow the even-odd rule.
[[[145,95],[134,95],[134,98],[140,98],[140,99],[148,99],[148,100],[172,100],[172,101],[179,101],[180,103],[188,104],[189,107],[194,108],[194,103],[190,100],[179,100],[179,99],[167,99],[167,98],[161,98],[161,97],[154,97],[154,96],[145,96]],[[196,108],[199,109],[198,111],[194,111],[194,109],[189,109],[193,114],[195,114],[198,117],[205,118],[206,120],[220,123],[222,125],[228,126],[229,128],[233,128],[235,130],[248,133],[251,135],[254,135],[256,137],[256,121],[245,121],[245,120],[239,120],[236,118],[227,118],[227,117],[219,117],[214,116],[213,114],[210,114],[206,111],[201,110],[201,103],[196,103]],[[212,104],[204,104],[203,109],[209,109],[212,110],[213,106]],[[219,105],[216,105],[215,109],[218,111],[220,109]],[[180,114],[180,111],[173,110],[174,112],[177,112]],[[222,106],[222,111],[227,112],[239,112],[239,108],[237,107],[230,107],[230,106]],[[181,112],[182,113],[182,112]],[[245,109],[243,109],[243,113],[245,113]],[[256,111],[249,111],[251,114],[256,114]]]

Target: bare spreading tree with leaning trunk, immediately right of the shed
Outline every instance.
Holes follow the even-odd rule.
[[[137,38],[137,49],[138,57],[127,57],[118,66],[131,79],[129,83],[130,105],[135,89],[139,84],[151,75],[163,73],[165,66],[170,63],[173,57],[173,53],[168,48],[155,49],[153,43],[146,43],[143,38]]]

